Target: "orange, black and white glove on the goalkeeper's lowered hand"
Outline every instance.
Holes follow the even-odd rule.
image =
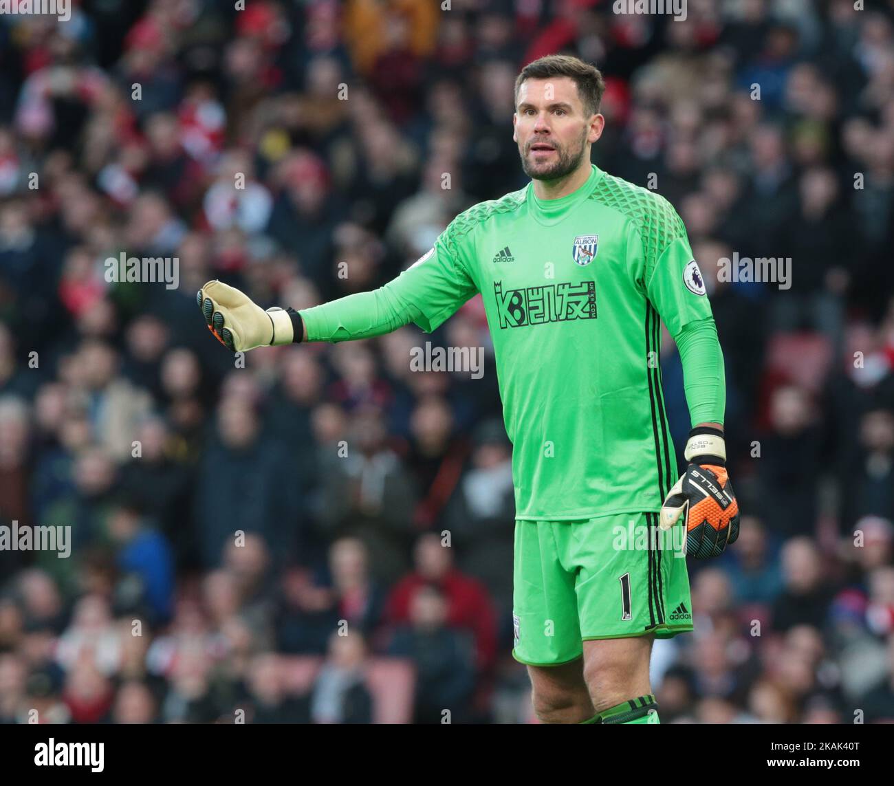
[[[683,516],[683,550],[704,560],[738,538],[738,503],[726,471],[723,432],[693,428],[684,456],[689,463],[662,504],[660,526],[670,529]]]

